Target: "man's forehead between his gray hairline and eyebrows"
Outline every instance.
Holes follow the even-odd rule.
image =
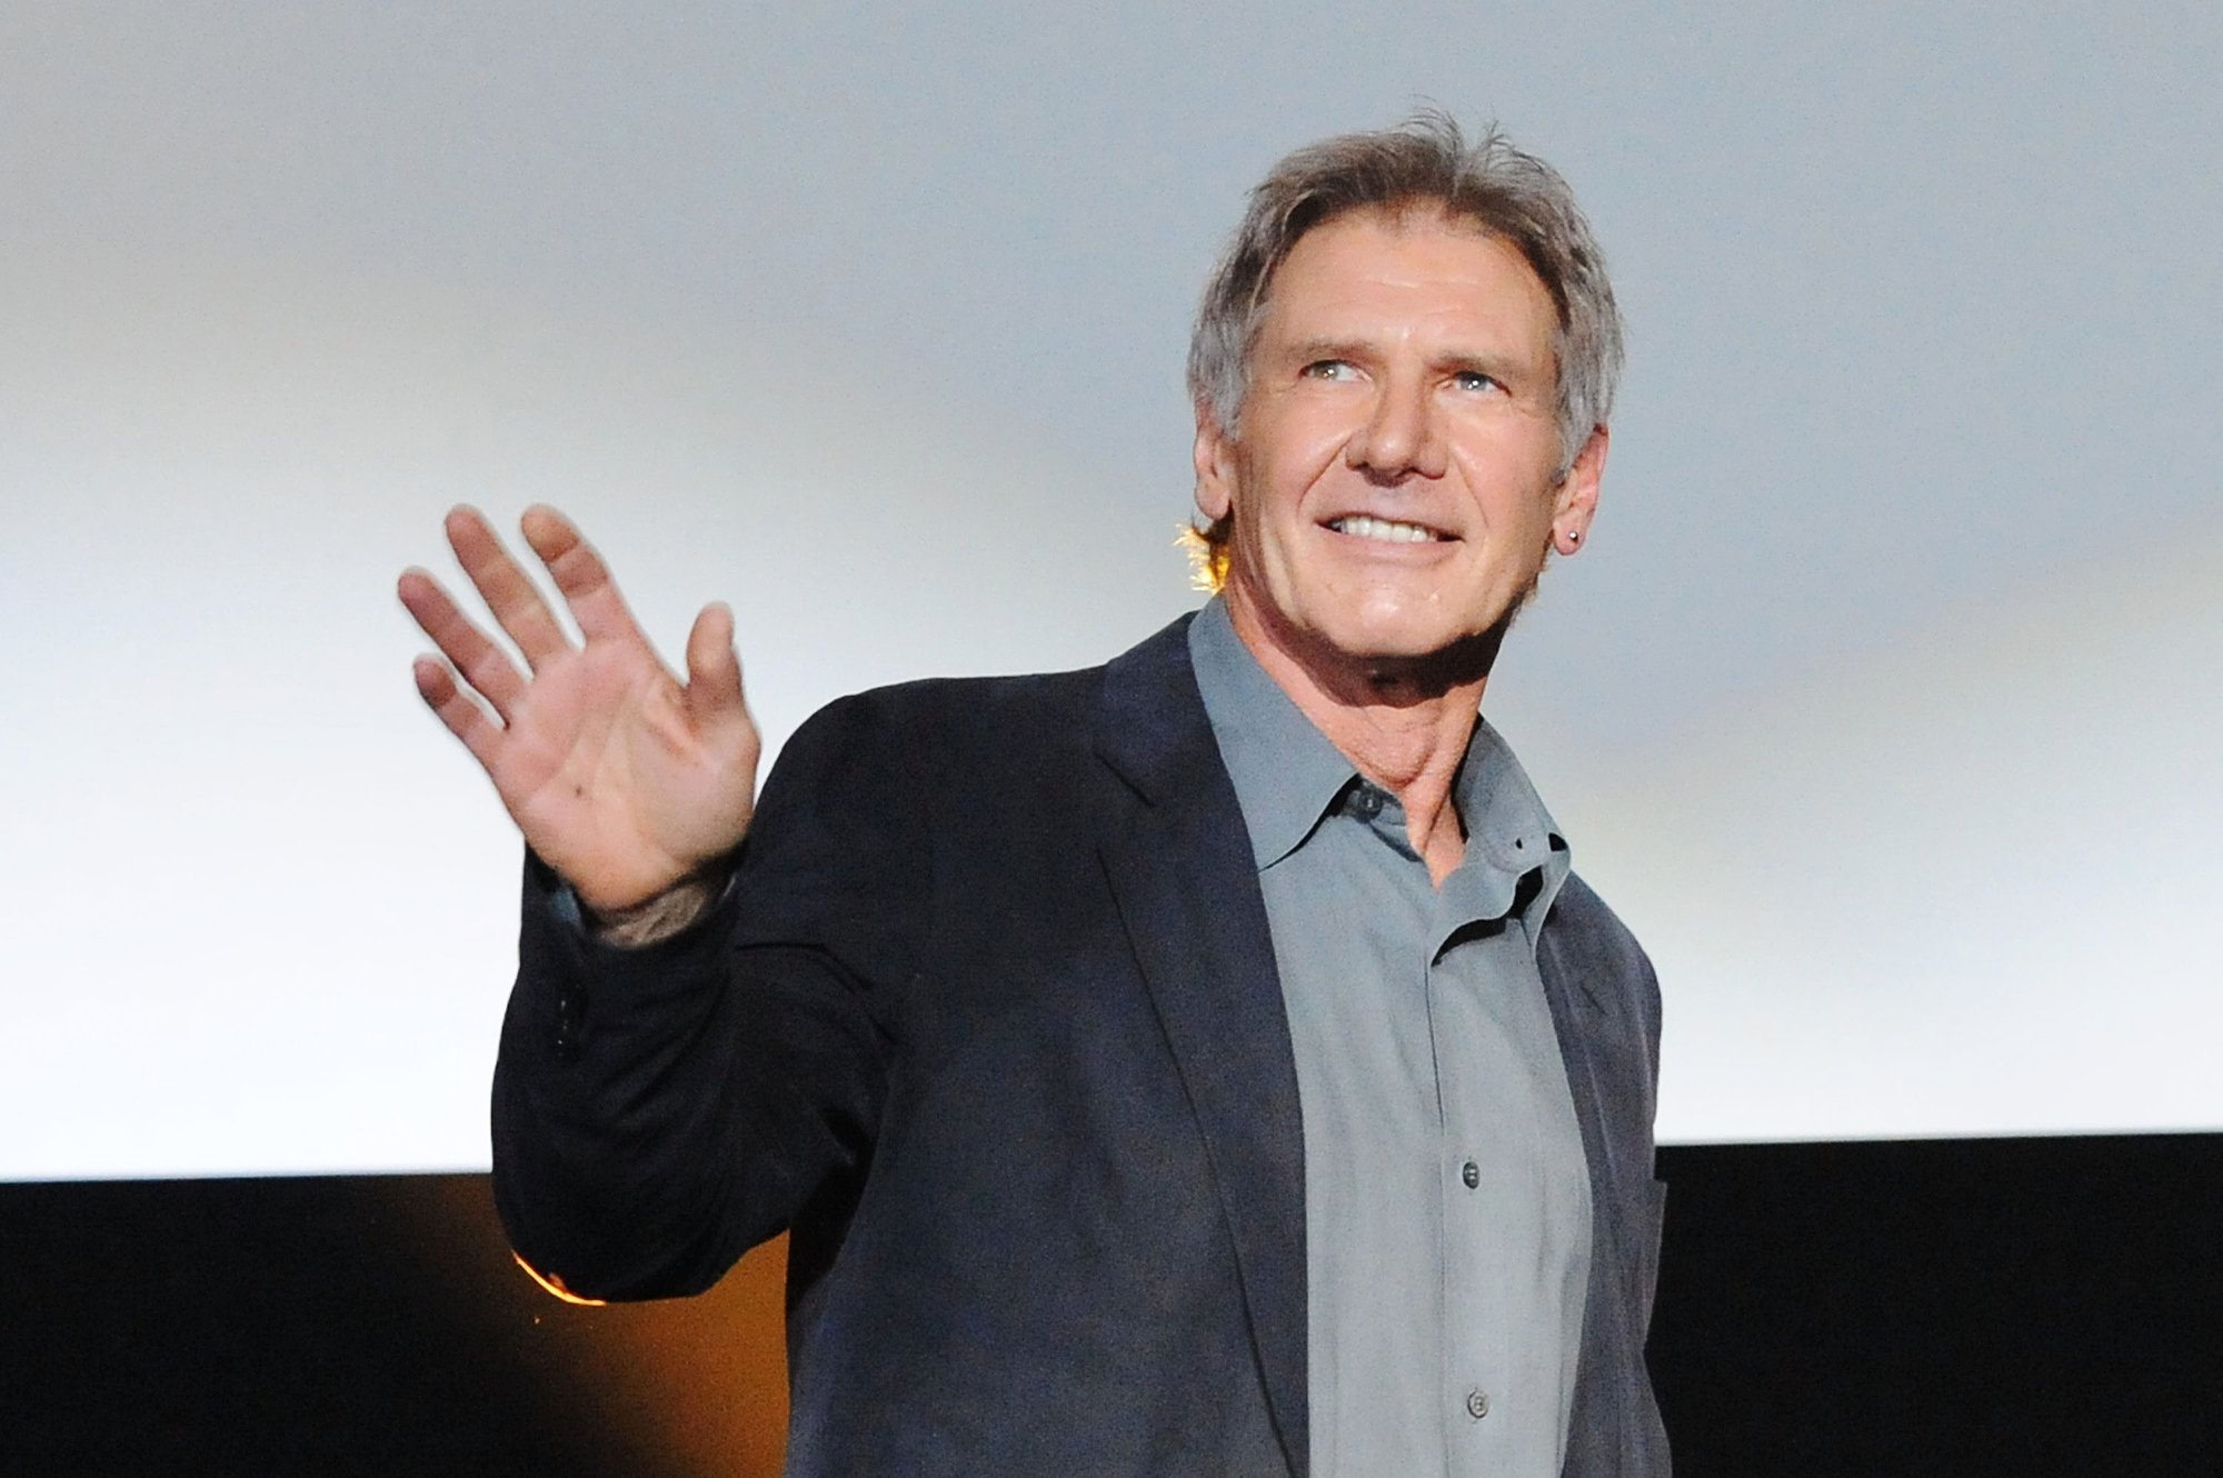
[[[1365,207],[1312,227],[1274,271],[1263,309],[1260,338],[1436,327],[1549,351],[1558,329],[1521,247],[1434,204]]]

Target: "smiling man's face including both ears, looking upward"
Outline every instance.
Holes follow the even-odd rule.
[[[1558,478],[1556,316],[1521,251],[1441,211],[1354,211],[1274,273],[1240,440],[1198,418],[1196,502],[1234,513],[1254,642],[1374,671],[1496,627],[1589,525],[1592,436]]]

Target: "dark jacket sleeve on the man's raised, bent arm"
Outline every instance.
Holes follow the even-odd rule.
[[[494,1194],[565,1291],[694,1294],[807,1205],[854,1200],[931,889],[898,707],[847,698],[796,731],[734,887],[671,940],[594,940],[527,858]]]

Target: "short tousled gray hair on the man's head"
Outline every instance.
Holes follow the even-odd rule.
[[[1565,473],[1589,431],[1612,416],[1621,380],[1621,309],[1605,278],[1605,256],[1556,169],[1514,149],[1494,127],[1469,144],[1458,122],[1438,109],[1425,109],[1396,129],[1307,144],[1252,191],[1249,211],[1196,309],[1189,398],[1236,440],[1267,291],[1298,238],[1349,211],[1414,204],[1436,204],[1445,216],[1503,238],[1552,293]]]

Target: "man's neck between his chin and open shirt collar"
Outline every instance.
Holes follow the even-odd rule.
[[[1352,658],[1296,640],[1232,589],[1227,616],[1312,727],[1360,776],[1398,798],[1414,851],[1441,885],[1465,856],[1452,782],[1474,738],[1505,622],[1420,658]]]

